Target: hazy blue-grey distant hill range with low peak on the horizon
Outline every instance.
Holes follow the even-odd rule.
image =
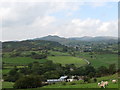
[[[55,42],[59,42],[61,44],[64,45],[68,45],[68,44],[78,44],[81,42],[114,42],[117,41],[117,37],[110,37],[110,36],[99,36],[99,37],[88,37],[88,36],[84,36],[84,37],[73,37],[73,38],[63,38],[63,37],[59,37],[59,36],[52,36],[52,35],[48,35],[42,38],[35,38],[33,40],[47,40],[47,41],[55,41]]]

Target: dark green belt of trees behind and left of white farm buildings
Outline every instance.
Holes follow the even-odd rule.
[[[91,65],[76,67],[74,64],[55,64],[52,61],[45,63],[33,62],[28,67],[14,67],[8,75],[4,75],[5,81],[15,82],[14,88],[36,88],[45,84],[47,79],[58,79],[60,76],[84,76],[84,81],[89,78],[97,78],[116,73],[116,65],[111,64],[109,67],[101,66],[94,68]],[[96,80],[96,79],[95,79]]]

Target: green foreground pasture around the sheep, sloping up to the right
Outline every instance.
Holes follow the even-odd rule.
[[[56,83],[53,85],[44,86],[42,88],[100,88],[100,87],[98,87],[98,84],[97,84],[100,81],[108,81],[109,85],[107,86],[107,88],[118,88],[118,82],[116,84],[114,84],[111,82],[112,79],[117,80],[118,79],[117,74],[97,78],[96,83],[92,82],[92,80],[91,80],[91,83],[82,84],[83,81],[81,80],[81,81],[67,82],[66,85],[64,85],[63,83]],[[75,85],[71,85],[72,83],[75,83]]]

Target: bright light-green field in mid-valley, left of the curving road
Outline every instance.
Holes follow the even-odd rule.
[[[54,63],[61,63],[62,65],[75,64],[76,66],[83,66],[87,64],[83,59],[73,56],[49,56],[48,60],[52,60]]]

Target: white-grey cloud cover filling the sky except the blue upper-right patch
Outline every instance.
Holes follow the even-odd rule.
[[[3,3],[0,7],[3,41],[36,38],[49,34],[64,37],[117,35],[116,21],[69,18],[84,4],[83,2]],[[66,12],[64,16],[68,17],[68,20],[61,19],[59,14],[57,17],[54,16],[54,13],[63,11]]]

